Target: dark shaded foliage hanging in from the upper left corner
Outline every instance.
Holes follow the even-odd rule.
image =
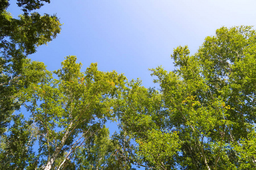
[[[26,11],[19,19],[6,11],[9,1],[1,1],[0,6],[0,134],[10,122],[11,113],[19,108],[15,99],[22,88],[18,82],[24,78],[23,62],[28,54],[36,52],[37,46],[55,39],[61,26],[55,15],[28,15],[27,11],[43,5],[41,1],[18,1],[18,5]]]

